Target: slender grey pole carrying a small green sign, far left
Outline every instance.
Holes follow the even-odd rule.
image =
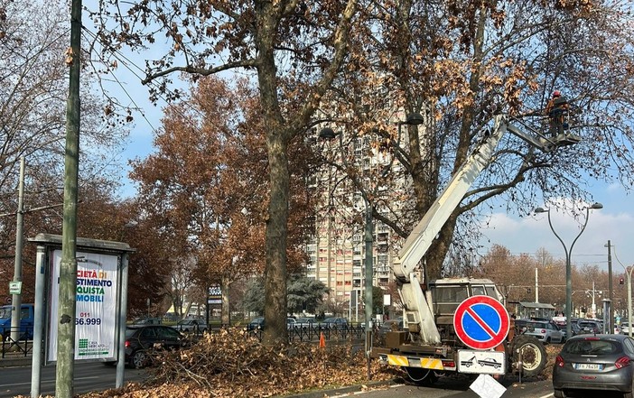
[[[14,282],[20,285],[20,292],[14,293],[11,298],[13,305],[11,310],[11,339],[20,339],[20,324],[22,316],[22,248],[23,248],[23,227],[24,227],[24,157],[20,158],[20,181],[18,182],[18,211],[17,224],[15,226],[15,263]]]

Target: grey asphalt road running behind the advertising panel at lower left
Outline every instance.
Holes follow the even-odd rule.
[[[55,366],[42,367],[40,393],[42,396],[55,394]],[[75,393],[89,393],[115,388],[117,367],[101,363],[81,363],[74,367]],[[143,370],[127,369],[125,382],[140,382],[144,379]],[[31,366],[3,367],[0,369],[0,398],[13,398],[16,395],[31,395]]]

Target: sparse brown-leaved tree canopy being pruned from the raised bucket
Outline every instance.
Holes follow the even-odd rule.
[[[477,249],[472,234],[490,199],[522,216],[542,200],[592,200],[595,179],[631,188],[627,3],[403,1],[363,10],[370,22],[353,31],[348,68],[323,110],[345,131],[344,153],[363,139],[384,156],[369,171],[346,172],[361,177],[373,216],[399,236],[432,206],[496,114],[538,137],[558,89],[573,104],[570,132],[583,138],[542,153],[508,134],[428,250],[431,278],[443,274],[448,251]],[[413,114],[423,123],[404,125]]]

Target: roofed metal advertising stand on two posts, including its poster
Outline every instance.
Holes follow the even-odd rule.
[[[40,395],[41,368],[57,361],[57,327],[62,236],[38,234],[31,396]],[[123,386],[130,245],[77,238],[75,361],[116,362]]]

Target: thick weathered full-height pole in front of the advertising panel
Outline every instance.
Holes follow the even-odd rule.
[[[66,155],[64,159],[64,208],[61,229],[60,319],[57,330],[55,396],[72,398],[75,363],[75,312],[77,285],[77,203],[79,174],[79,60],[81,51],[81,0],[70,8],[69,97],[66,103]]]

